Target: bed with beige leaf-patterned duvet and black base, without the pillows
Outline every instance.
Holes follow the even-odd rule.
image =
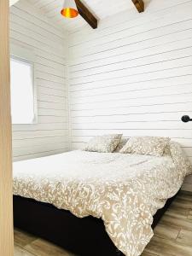
[[[72,151],[16,162],[15,226],[78,255],[141,255],[189,173],[170,145],[162,157]]]

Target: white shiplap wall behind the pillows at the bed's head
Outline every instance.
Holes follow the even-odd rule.
[[[123,132],[165,136],[192,162],[192,1],[152,0],[70,35],[73,148]],[[192,188],[192,179],[186,186]]]

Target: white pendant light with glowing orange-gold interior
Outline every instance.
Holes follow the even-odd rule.
[[[66,18],[75,18],[79,15],[75,0],[65,0],[63,3],[63,9],[61,9],[61,15]]]

